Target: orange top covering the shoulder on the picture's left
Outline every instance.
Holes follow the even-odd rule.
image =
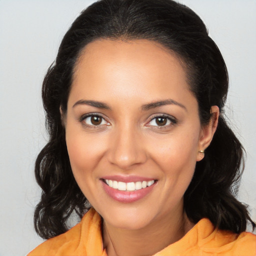
[[[27,256],[48,256],[48,255],[87,255],[86,241],[97,241],[101,239],[100,216],[94,209],[90,209],[81,221],[63,234],[52,237],[39,244]]]

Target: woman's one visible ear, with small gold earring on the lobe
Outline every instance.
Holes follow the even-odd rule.
[[[211,118],[209,123],[201,127],[196,161],[200,161],[204,157],[204,152],[200,152],[200,150],[204,151],[209,146],[218,125],[219,108],[211,106],[210,111]]]

